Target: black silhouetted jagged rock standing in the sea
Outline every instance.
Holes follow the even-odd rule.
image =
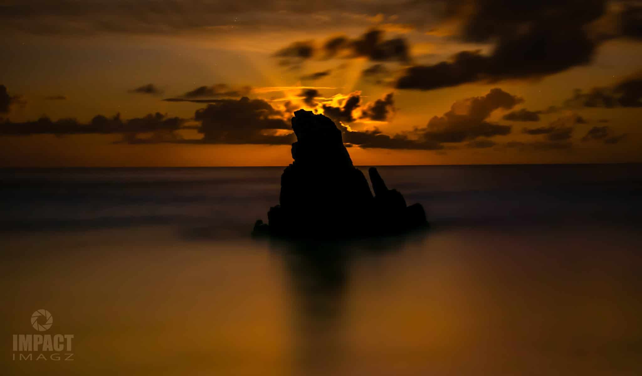
[[[370,167],[370,182],[352,165],[341,130],[321,114],[294,112],[293,163],[281,175],[279,205],[268,224],[257,220],[254,235],[286,238],[356,238],[394,235],[427,227],[421,204],[406,206]]]

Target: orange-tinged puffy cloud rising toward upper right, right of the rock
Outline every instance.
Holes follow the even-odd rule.
[[[457,143],[478,137],[510,133],[510,125],[490,123],[486,119],[497,109],[512,109],[522,98],[495,88],[485,96],[474,96],[455,102],[443,116],[433,116],[428,126],[417,129],[421,139],[438,143]]]

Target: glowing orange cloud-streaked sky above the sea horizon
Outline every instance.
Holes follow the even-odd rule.
[[[196,111],[208,103],[164,99],[236,103],[248,96],[273,110],[262,121],[289,123],[291,112],[299,108],[328,114],[325,105],[339,111],[351,93],[359,100],[352,117],[334,120],[354,131],[353,139],[377,129],[391,138],[408,138],[404,142],[411,145],[355,143],[349,151],[357,165],[642,162],[642,44],[625,17],[637,3],[605,2],[593,15],[564,1],[515,5],[527,7],[525,15],[517,15],[523,9],[503,14],[493,4],[481,8],[478,1],[445,8],[434,1],[416,9],[385,1],[317,4],[312,9],[290,2],[220,9],[177,0],[174,8],[159,9],[140,0],[125,13],[116,6],[96,9],[88,4],[65,12],[66,3],[56,3],[25,10],[24,2],[8,2],[7,9],[15,14],[11,21],[3,18],[1,26],[0,84],[8,99],[5,111],[0,103],[0,127],[5,129],[0,133],[0,166],[287,165],[291,157],[286,142],[266,145],[254,139],[248,141],[254,145],[244,145],[241,130],[232,142],[225,134],[227,129],[237,132],[236,118],[225,123],[218,118],[221,112],[212,109],[214,119],[198,120]],[[551,17],[547,6],[565,6],[554,10],[579,15],[565,26],[564,17],[546,19]],[[484,13],[491,11],[490,16]],[[507,30],[517,31],[500,26],[475,31],[478,19],[488,17],[496,17],[493,25],[508,24]],[[37,26],[26,28],[29,22]],[[379,40],[369,46],[365,33],[372,30],[379,31]],[[578,41],[571,40],[570,48],[565,40],[550,51],[537,45],[547,35],[575,31]],[[533,45],[513,43],[515,33],[517,41],[523,37]],[[324,47],[338,36],[343,36],[340,48]],[[578,47],[573,55],[584,37],[590,48]],[[296,42],[309,45],[310,53],[288,49]],[[395,49],[399,45],[403,53]],[[508,55],[498,52],[504,45],[513,46]],[[480,62],[461,69],[453,55],[462,51],[471,51]],[[533,58],[528,57],[531,53]],[[532,60],[538,62],[529,66]],[[433,75],[440,63],[453,69]],[[382,71],[368,75],[367,69],[378,64]],[[411,76],[414,67],[428,73]],[[445,84],[435,85],[442,80]],[[153,93],[135,91],[147,84],[153,85]],[[227,93],[219,90],[221,84]],[[188,94],[202,86],[203,93]],[[311,102],[304,100],[304,87],[317,88]],[[490,103],[487,95],[494,88],[515,103]],[[574,94],[575,89],[582,95]],[[394,102],[384,106],[384,118],[377,118],[373,106],[389,93]],[[477,114],[476,101],[487,101],[483,105],[489,106],[488,113]],[[551,106],[555,109],[548,111]],[[521,109],[536,113],[537,120],[504,118]],[[172,129],[171,136],[161,139],[154,137],[156,131],[69,132],[55,125],[36,131],[26,123],[48,116],[53,122],[74,118],[85,125],[98,114],[110,118],[119,113],[127,127],[126,120],[155,112],[180,118],[185,129]],[[429,124],[433,116],[442,121]],[[205,121],[211,121],[207,131]],[[487,125],[510,130],[475,130]]]

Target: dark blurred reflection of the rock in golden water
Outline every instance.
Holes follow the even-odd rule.
[[[363,258],[401,251],[406,242],[421,242],[425,235],[334,242],[270,240],[270,248],[282,257],[292,291],[293,374],[345,374],[354,354],[347,337],[353,266]]]

